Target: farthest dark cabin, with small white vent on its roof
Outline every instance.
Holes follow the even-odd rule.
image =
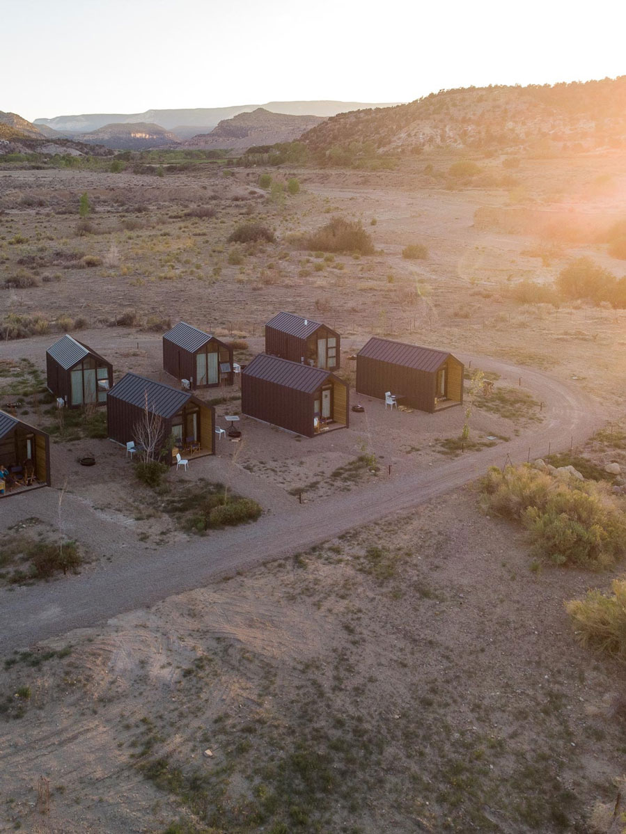
[[[265,353],[337,370],[340,367],[341,336],[313,319],[293,313],[278,313],[265,324]]]

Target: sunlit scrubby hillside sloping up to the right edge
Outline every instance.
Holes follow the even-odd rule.
[[[409,104],[341,113],[302,141],[316,153],[351,146],[419,153],[437,147],[477,150],[572,144],[626,144],[626,76],[528,87],[442,90]]]

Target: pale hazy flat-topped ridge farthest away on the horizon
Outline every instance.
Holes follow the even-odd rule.
[[[184,130],[177,133],[181,138],[189,138],[189,128],[194,133],[199,130],[209,133],[224,119],[233,118],[240,113],[251,113],[257,108],[269,110],[271,113],[283,113],[285,115],[321,116],[328,118],[336,113],[344,113],[347,110],[362,108],[389,107],[389,103],[375,104],[362,102],[341,102],[341,101],[294,101],[294,102],[268,102],[265,104],[243,104],[235,107],[225,108],[184,108],[172,110],[146,110],[145,113],[83,113],[79,115],[55,116],[53,118],[36,118],[35,126],[46,125],[61,133],[90,133],[108,124],[129,124],[149,123],[158,124],[165,130],[176,133],[176,129]]]

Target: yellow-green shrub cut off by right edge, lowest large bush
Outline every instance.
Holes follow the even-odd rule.
[[[613,594],[589,590],[565,604],[578,640],[626,661],[626,579],[613,581]]]

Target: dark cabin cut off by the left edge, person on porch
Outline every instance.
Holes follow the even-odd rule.
[[[0,495],[25,485],[50,485],[50,437],[45,431],[0,411],[0,465],[9,471],[13,489],[0,476]],[[30,483],[29,483],[30,482]]]

